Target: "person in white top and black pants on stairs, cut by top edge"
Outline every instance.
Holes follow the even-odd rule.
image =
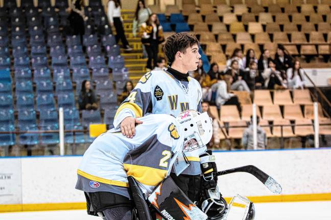
[[[127,51],[132,50],[127,41],[123,28],[123,18],[121,16],[121,0],[109,0],[108,1],[108,20],[110,26],[115,26],[116,29],[116,42],[118,43],[121,39],[123,48]]]

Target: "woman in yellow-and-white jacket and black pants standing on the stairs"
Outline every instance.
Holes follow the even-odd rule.
[[[163,30],[155,13],[151,14],[149,19],[140,26],[141,42],[145,45],[148,60],[147,68],[152,68],[152,60],[156,67],[158,45],[164,41]]]

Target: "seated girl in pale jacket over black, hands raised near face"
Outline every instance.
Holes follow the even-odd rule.
[[[263,71],[262,76],[265,79],[265,87],[267,89],[287,88],[286,80],[283,80],[281,73],[276,69],[276,64],[272,59],[269,60],[269,68]]]

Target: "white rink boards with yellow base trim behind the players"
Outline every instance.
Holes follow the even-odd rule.
[[[331,148],[267,151],[215,151],[219,170],[253,164],[282,186],[273,195],[245,173],[219,178],[224,197],[236,194],[253,202],[331,200]],[[0,211],[83,209],[75,189],[81,156],[0,158]]]

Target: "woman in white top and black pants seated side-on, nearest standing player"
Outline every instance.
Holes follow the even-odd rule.
[[[241,112],[241,106],[238,97],[230,93],[230,87],[233,78],[231,75],[225,75],[224,80],[219,80],[217,83],[216,105],[220,108],[221,105],[237,105],[238,111]]]

